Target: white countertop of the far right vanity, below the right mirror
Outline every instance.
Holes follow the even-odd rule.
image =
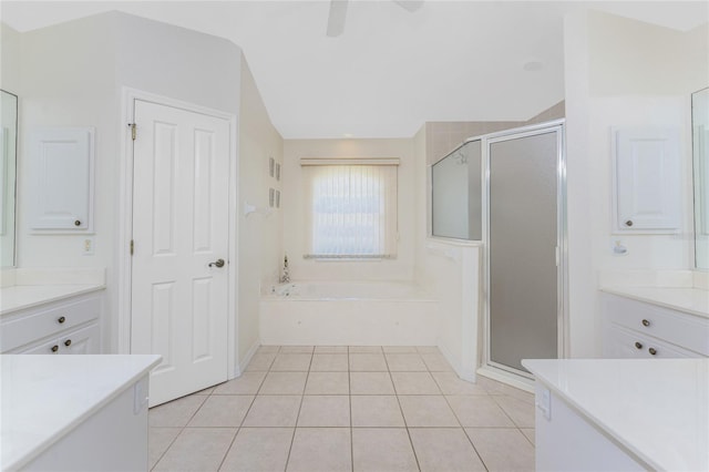
[[[709,291],[700,288],[602,287],[600,290],[709,318]]]

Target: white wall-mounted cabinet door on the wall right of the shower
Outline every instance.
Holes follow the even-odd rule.
[[[679,227],[679,140],[675,130],[615,130],[616,232]]]

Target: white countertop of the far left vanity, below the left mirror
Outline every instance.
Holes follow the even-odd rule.
[[[103,284],[16,285],[0,288],[0,315],[102,290]]]

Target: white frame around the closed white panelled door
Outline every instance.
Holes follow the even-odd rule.
[[[238,337],[236,327],[238,321],[238,145],[237,116],[233,113],[209,109],[194,103],[184,102],[167,96],[157,95],[137,89],[124,86],[121,93],[121,122],[119,123],[121,138],[120,170],[119,170],[119,234],[117,234],[117,352],[131,353],[131,296],[132,296],[132,256],[131,238],[133,235],[133,138],[130,123],[135,116],[135,101],[155,103],[158,105],[182,109],[193,113],[201,113],[229,122],[229,183],[228,183],[228,255],[227,255],[227,379],[240,374],[236,362],[238,352]],[[140,130],[137,130],[140,133]]]

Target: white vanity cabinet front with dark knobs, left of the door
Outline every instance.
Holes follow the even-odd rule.
[[[101,353],[101,295],[89,294],[7,315],[2,353]]]

